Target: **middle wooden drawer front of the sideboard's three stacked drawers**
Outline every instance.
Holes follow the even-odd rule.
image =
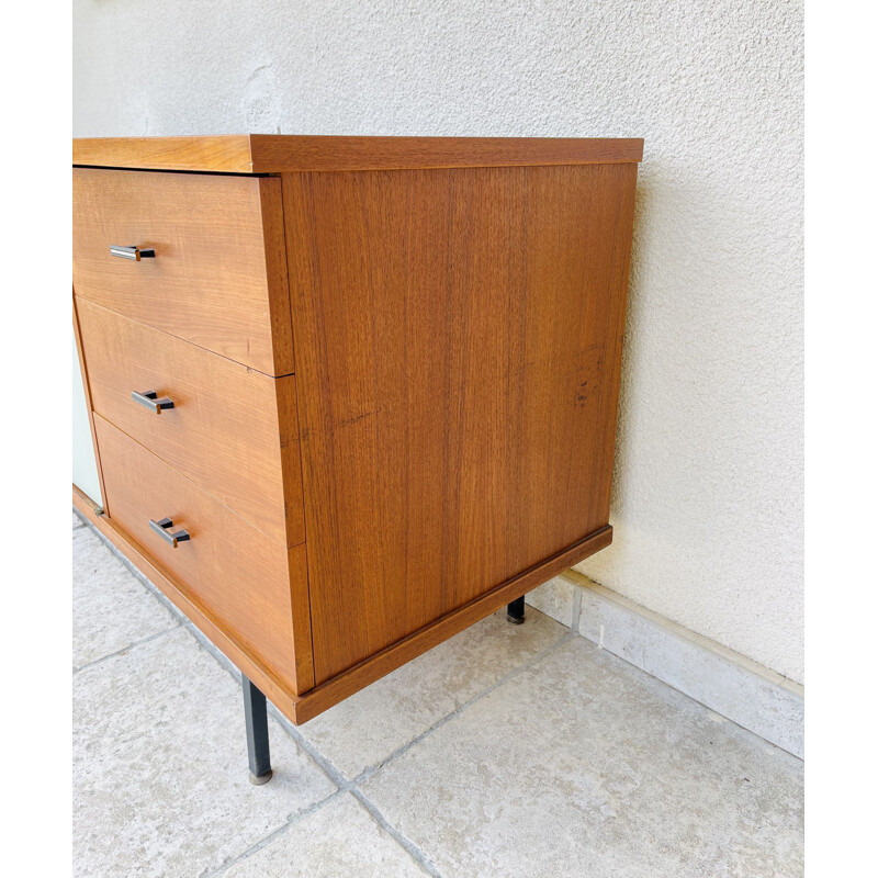
[[[76,297],[94,410],[283,545],[305,539],[295,379]],[[172,408],[147,408],[155,392]]]

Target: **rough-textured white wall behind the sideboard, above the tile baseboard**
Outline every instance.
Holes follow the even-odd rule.
[[[583,572],[802,679],[802,11],[75,0],[76,136],[642,136],[614,547]]]

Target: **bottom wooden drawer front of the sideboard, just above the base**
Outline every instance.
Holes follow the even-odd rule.
[[[296,693],[311,688],[304,544],[268,539],[98,414],[94,430],[113,525],[245,652]],[[164,518],[190,539],[171,547],[149,525]]]

